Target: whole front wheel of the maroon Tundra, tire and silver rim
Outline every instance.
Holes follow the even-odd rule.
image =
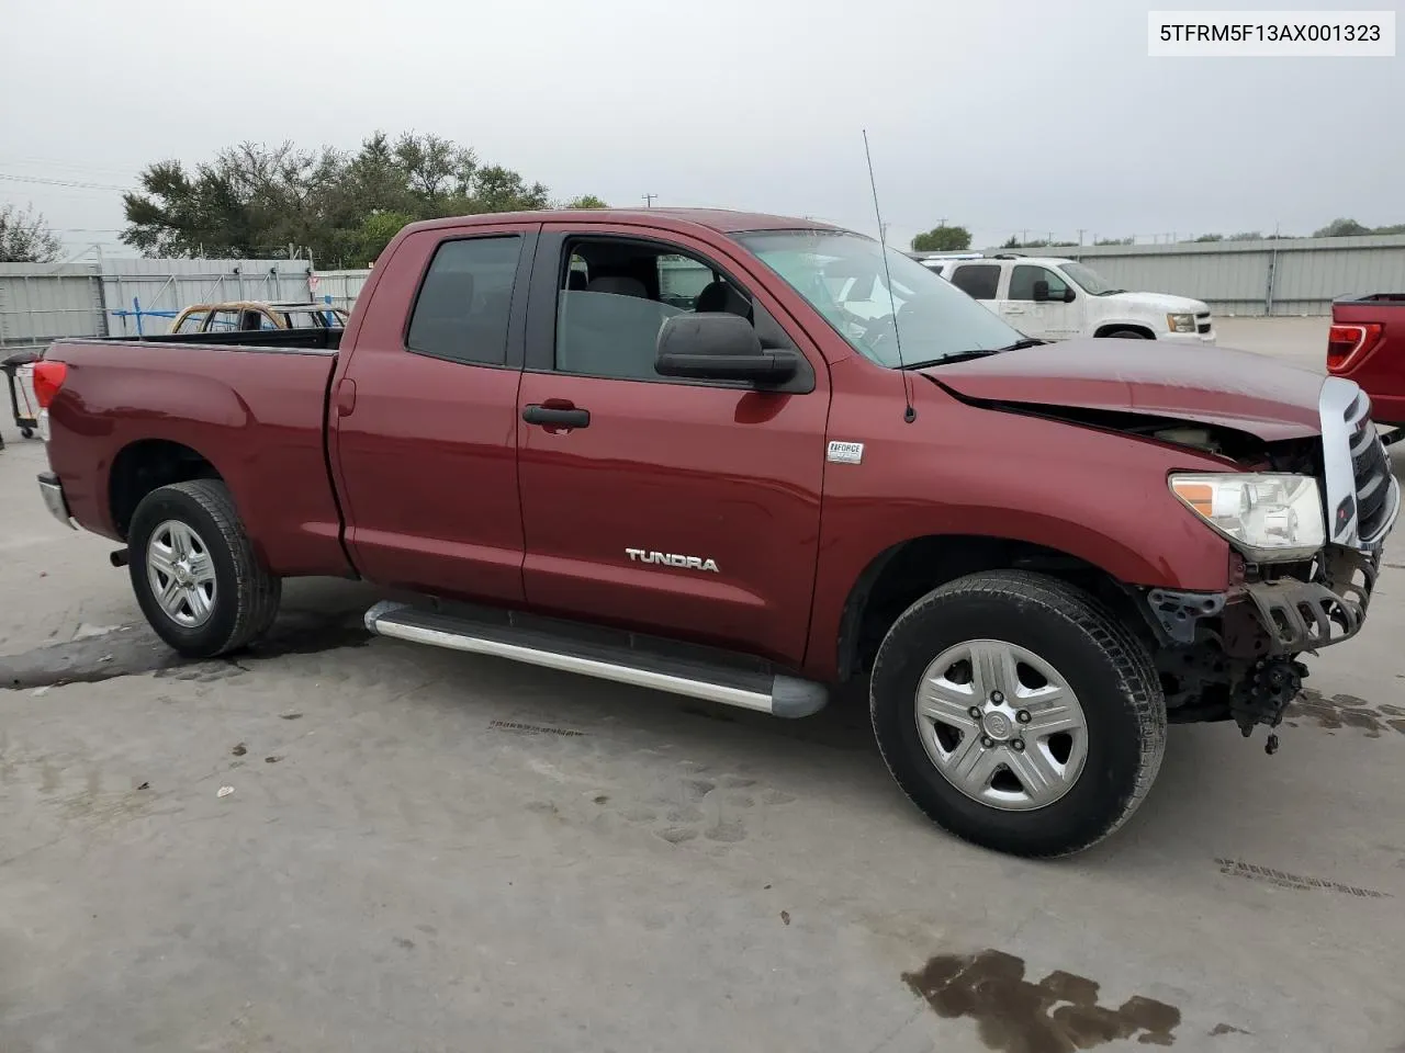
[[[1086,592],[1023,571],[972,574],[909,607],[878,650],[870,709],[917,807],[1024,856],[1117,830],[1166,744],[1145,649]]]

